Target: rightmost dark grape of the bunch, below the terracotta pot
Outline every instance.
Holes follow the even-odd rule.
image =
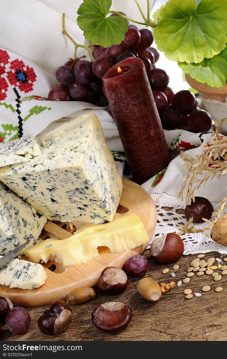
[[[207,111],[200,110],[191,113],[187,119],[188,126],[193,132],[208,132],[212,127],[212,118]]]

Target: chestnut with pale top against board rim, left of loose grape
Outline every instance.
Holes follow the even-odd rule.
[[[120,294],[128,286],[128,277],[126,273],[116,267],[105,268],[99,277],[98,288],[101,292],[108,294]]]

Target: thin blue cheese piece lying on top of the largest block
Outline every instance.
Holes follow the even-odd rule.
[[[0,167],[29,161],[30,158],[41,155],[41,150],[32,136],[7,141],[0,145]]]

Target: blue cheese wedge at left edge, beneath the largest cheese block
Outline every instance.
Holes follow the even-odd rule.
[[[46,217],[0,182],[0,255],[30,239],[32,246],[46,222]]]

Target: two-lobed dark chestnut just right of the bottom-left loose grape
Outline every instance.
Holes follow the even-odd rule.
[[[56,300],[39,317],[38,327],[43,334],[58,335],[68,328],[71,320],[72,309],[63,300]]]

